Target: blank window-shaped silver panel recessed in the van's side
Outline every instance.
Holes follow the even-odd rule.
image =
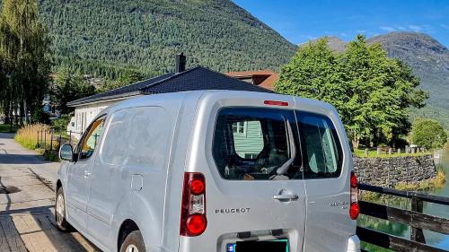
[[[101,162],[163,169],[171,132],[172,122],[163,108],[118,110],[105,132]]]

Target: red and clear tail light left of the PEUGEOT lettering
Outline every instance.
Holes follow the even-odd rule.
[[[206,179],[202,173],[185,172],[180,209],[180,235],[198,236],[207,227]]]

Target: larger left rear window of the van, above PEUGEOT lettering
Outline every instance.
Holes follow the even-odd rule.
[[[213,143],[225,179],[301,179],[295,113],[286,109],[225,108],[218,112]]]

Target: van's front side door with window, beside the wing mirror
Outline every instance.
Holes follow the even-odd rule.
[[[75,147],[76,160],[68,170],[66,189],[67,218],[80,230],[86,229],[88,180],[94,161],[94,150],[100,139],[104,117],[92,122]]]

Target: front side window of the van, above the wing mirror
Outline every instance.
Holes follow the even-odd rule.
[[[87,134],[84,135],[83,142],[79,145],[79,158],[81,160],[88,159],[92,156],[92,153],[100,140],[103,124],[104,117],[97,119],[89,127]]]

